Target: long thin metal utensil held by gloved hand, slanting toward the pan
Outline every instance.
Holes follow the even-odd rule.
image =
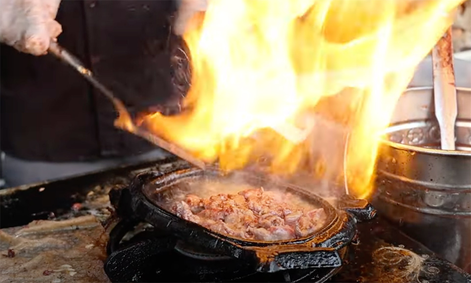
[[[48,51],[55,55],[57,58],[59,58],[61,61],[72,66],[82,77],[88,80],[94,87],[99,89],[100,92],[104,94],[105,97],[113,103],[114,107],[116,108],[116,111],[118,111],[120,116],[117,120],[118,123],[115,123],[117,127],[126,129],[142,138],[145,138],[151,143],[157,145],[158,147],[161,147],[162,149],[179,156],[180,158],[188,161],[189,163],[201,169],[206,169],[206,164],[202,160],[195,158],[191,154],[185,152],[183,149],[161,139],[160,137],[150,133],[149,131],[135,126],[134,123],[132,123],[131,116],[126,109],[126,106],[114,96],[112,91],[110,91],[101,82],[99,82],[98,79],[93,76],[92,71],[85,68],[83,63],[80,62],[77,57],[75,57],[69,51],[61,47],[59,44],[57,44],[57,42],[51,40]],[[122,123],[119,123],[120,119]]]

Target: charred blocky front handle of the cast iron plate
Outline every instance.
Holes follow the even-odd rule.
[[[306,245],[270,246],[256,250],[257,271],[277,272],[293,268],[339,267],[342,259],[334,248]]]

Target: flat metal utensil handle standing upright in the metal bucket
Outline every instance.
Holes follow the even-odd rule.
[[[432,50],[435,116],[440,126],[443,150],[455,150],[457,115],[451,27]]]

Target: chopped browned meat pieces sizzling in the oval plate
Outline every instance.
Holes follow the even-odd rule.
[[[238,194],[200,198],[187,194],[171,211],[214,232],[244,239],[281,241],[305,237],[322,227],[324,209],[307,209],[281,192],[247,189]]]

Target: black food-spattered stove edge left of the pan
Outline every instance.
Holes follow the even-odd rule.
[[[186,162],[170,157],[73,178],[1,190],[0,228],[22,226],[40,219],[68,219],[95,213],[97,209],[105,213],[104,210],[109,206],[107,194],[111,188],[129,185],[142,171],[165,172],[186,168],[185,166],[188,166]],[[82,204],[84,209],[74,211],[72,206],[76,203]],[[89,209],[90,204],[99,203],[102,207]]]

